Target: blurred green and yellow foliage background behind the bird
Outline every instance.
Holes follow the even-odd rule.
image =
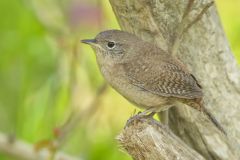
[[[216,2],[240,62],[240,0]],[[59,150],[88,160],[129,160],[115,137],[134,113],[131,104],[107,87],[88,110],[104,80],[79,40],[110,28],[119,26],[108,0],[1,0],[0,132],[32,144],[53,140],[72,112],[82,112],[87,116],[67,130]],[[13,158],[0,153],[0,159]]]

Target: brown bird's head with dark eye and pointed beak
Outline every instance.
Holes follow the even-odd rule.
[[[94,39],[84,39],[81,42],[89,44],[95,50],[99,63],[122,63],[134,53],[140,40],[128,32],[107,30],[100,32]]]

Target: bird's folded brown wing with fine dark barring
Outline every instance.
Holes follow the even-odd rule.
[[[124,64],[129,82],[140,89],[165,97],[200,98],[201,86],[183,65],[173,58],[153,55]]]

